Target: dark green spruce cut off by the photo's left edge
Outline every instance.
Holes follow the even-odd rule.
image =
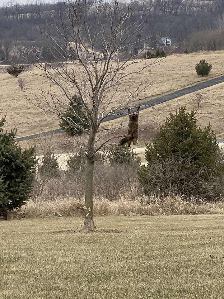
[[[0,120],[0,215],[19,208],[29,199],[35,171],[35,148],[21,150],[16,132],[3,132]]]

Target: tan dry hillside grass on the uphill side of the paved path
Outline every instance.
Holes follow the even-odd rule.
[[[221,76],[223,74],[223,58],[224,51],[169,56],[159,64],[155,64],[152,68],[149,67],[148,72],[133,77],[135,84],[131,82],[130,86],[125,87],[133,90],[140,83],[142,87],[149,87],[142,93],[141,99],[136,99],[136,103],[139,103],[142,102],[142,99],[145,100],[163,93],[170,93],[185,86]],[[206,78],[199,77],[195,71],[195,64],[200,59],[206,59],[209,63],[212,63],[212,71]],[[148,63],[152,62],[152,60],[149,59]],[[33,72],[36,72],[36,74],[39,72],[40,74],[40,71],[36,69],[33,69]],[[58,120],[54,118],[54,115],[44,113],[26,99],[31,97],[29,92],[37,93],[38,88],[48,90],[50,82],[29,72],[24,72],[20,76],[26,82],[25,89],[22,91],[16,78],[9,74],[0,74],[0,110],[3,113],[7,113],[5,128],[11,129],[16,126],[17,136],[58,128]],[[60,94],[55,86],[52,86],[52,91]],[[119,97],[116,97],[115,101],[119,101],[122,96],[123,94],[120,92]]]

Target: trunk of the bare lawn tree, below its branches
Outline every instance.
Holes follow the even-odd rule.
[[[94,230],[93,221],[93,170],[94,170],[94,156],[87,156],[86,164],[86,194],[84,207],[84,229]]]

